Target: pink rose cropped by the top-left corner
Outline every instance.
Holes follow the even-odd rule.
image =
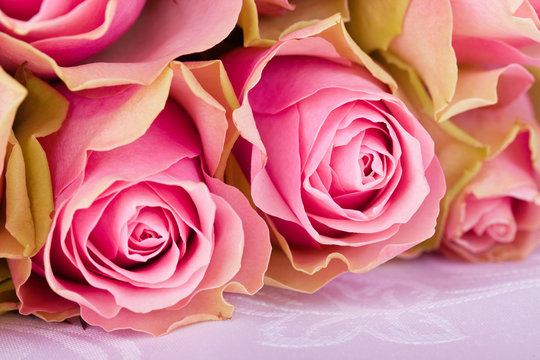
[[[0,65],[23,63],[72,90],[148,84],[234,28],[241,0],[1,1]],[[212,24],[212,26],[208,26]]]

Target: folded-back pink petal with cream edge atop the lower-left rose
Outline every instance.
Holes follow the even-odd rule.
[[[55,193],[82,173],[87,151],[113,149],[144,134],[165,105],[171,79],[172,71],[167,68],[150,86],[132,85],[102,99],[60,87],[73,111],[59,132],[42,141],[54,174]]]

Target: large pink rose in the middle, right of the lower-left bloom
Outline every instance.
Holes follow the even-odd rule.
[[[242,103],[234,155],[273,230],[269,284],[315,291],[433,234],[445,191],[433,141],[339,16],[224,63]]]

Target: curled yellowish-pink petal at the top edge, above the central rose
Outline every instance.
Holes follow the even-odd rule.
[[[292,31],[337,13],[346,20],[350,17],[346,0],[296,0],[291,4],[295,9],[283,15],[259,16],[254,0],[244,0],[238,20],[244,30],[244,46],[270,46]]]

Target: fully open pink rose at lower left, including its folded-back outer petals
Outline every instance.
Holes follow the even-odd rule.
[[[22,314],[160,335],[229,318],[223,291],[262,286],[266,224],[211,176],[225,161],[230,84],[220,62],[171,67],[92,97],[58,86],[69,113],[41,140],[51,229],[31,260],[9,260]]]

